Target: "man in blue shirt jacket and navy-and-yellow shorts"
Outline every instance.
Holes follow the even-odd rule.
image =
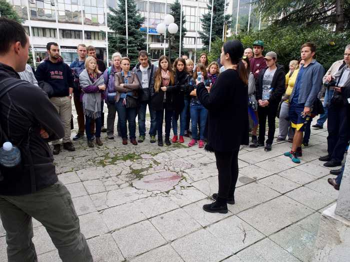
[[[300,163],[297,153],[302,143],[305,125],[310,121],[310,115],[317,94],[322,87],[324,68],[313,57],[316,45],[306,42],[300,48],[301,59],[304,60],[295,80],[293,91],[289,97],[289,119],[291,127],[295,128],[293,144],[290,152],[284,153],[292,162]]]

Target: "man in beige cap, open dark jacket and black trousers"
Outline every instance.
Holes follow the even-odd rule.
[[[257,115],[259,117],[258,141],[250,147],[265,147],[265,151],[271,151],[275,131],[275,118],[278,104],[285,89],[285,72],[283,66],[276,64],[277,54],[266,53],[264,60],[267,68],[259,72],[256,79],[255,97],[258,102]],[[268,122],[268,135],[265,140],[266,118]]]

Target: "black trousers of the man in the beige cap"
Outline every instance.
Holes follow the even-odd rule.
[[[272,144],[274,131],[276,130],[275,121],[278,105],[269,104],[266,107],[258,106],[257,115],[259,118],[259,143],[264,143],[266,132],[266,118],[268,123],[268,133],[266,144]]]

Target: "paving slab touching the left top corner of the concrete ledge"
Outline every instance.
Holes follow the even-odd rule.
[[[285,196],[314,210],[319,210],[335,201],[334,198],[318,193],[307,187],[297,188],[286,193]]]

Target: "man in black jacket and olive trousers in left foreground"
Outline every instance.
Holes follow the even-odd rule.
[[[0,81],[6,81],[0,84],[0,92],[19,84],[0,98],[0,142],[2,146],[5,134],[20,149],[24,166],[10,175],[2,172],[4,178],[0,181],[0,217],[6,231],[7,259],[37,261],[31,241],[33,217],[45,227],[63,262],[92,262],[71,196],[57,179],[47,144],[64,135],[60,117],[47,95],[20,80],[17,73],[25,69],[28,59],[28,36],[19,23],[0,17],[0,39]]]

